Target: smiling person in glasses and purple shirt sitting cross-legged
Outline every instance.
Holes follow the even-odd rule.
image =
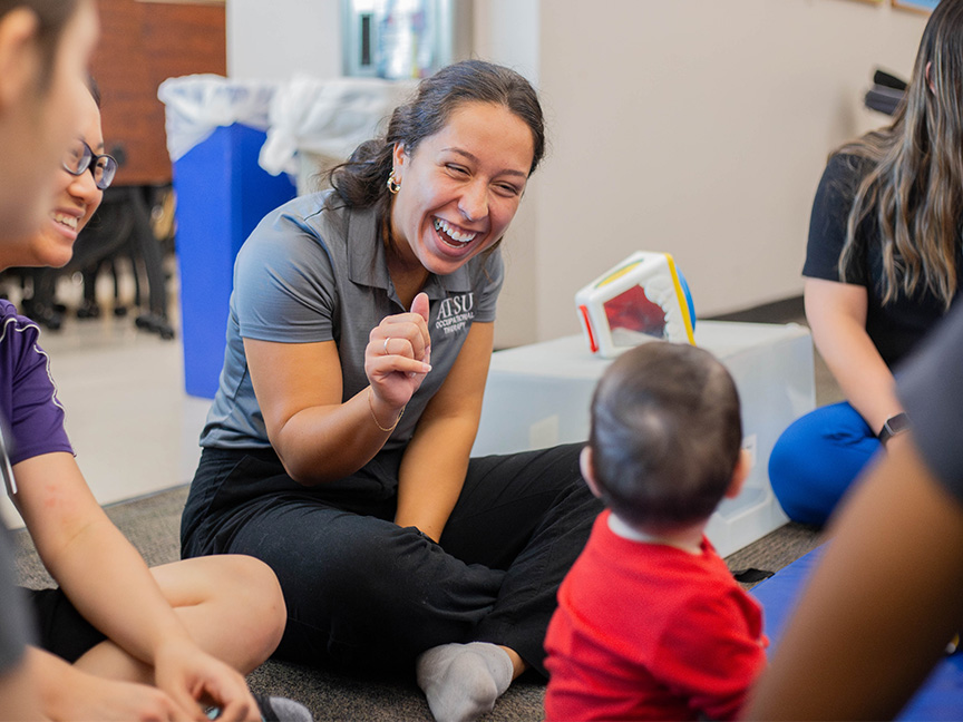
[[[96,92],[67,146],[39,233],[0,243],[0,267],[61,266],[114,179]],[[57,588],[29,591],[38,623],[28,655],[42,712],[56,720],[310,720],[255,699],[243,674],[281,640],[281,587],[262,562],[206,557],[148,569],[98,505],[75,460],[40,330],[0,300],[0,417],[10,495]],[[56,362],[55,362],[56,363]]]

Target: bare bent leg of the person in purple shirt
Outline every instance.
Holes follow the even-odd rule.
[[[286,622],[284,598],[274,573],[262,562],[218,555],[150,572],[197,645],[242,674],[264,662],[281,641]],[[98,676],[154,683],[149,665],[109,641],[76,664]]]

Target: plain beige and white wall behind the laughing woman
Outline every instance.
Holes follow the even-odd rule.
[[[339,71],[338,0],[227,7],[232,75]],[[640,248],[675,256],[699,315],[800,293],[826,155],[885,123],[862,96],[876,66],[909,75],[925,20],[857,0],[475,0],[475,55],[539,87],[551,142],[496,342],[576,333],[575,291]]]

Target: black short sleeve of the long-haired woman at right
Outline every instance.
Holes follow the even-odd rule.
[[[839,281],[839,256],[846,243],[846,222],[853,206],[864,162],[850,155],[829,158],[809,217],[809,241],[802,275],[810,279]],[[864,264],[857,262],[847,272],[846,283],[866,285]]]

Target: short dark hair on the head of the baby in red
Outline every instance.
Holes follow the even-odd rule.
[[[736,383],[708,351],[644,343],[599,382],[588,443],[602,499],[626,523],[658,528],[706,519],[739,459]]]

